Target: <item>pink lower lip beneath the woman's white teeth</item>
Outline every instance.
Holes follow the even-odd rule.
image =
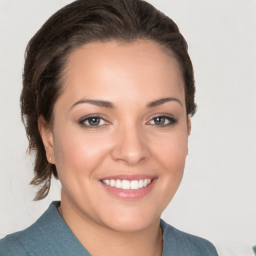
[[[128,199],[128,200],[136,200],[136,199],[140,199],[140,198],[146,196],[152,190],[155,182],[156,182],[156,178],[153,178],[150,184],[148,184],[147,186],[144,186],[142,188],[121,189],[121,188],[117,188],[115,186],[106,185],[100,181],[100,183],[103,185],[103,187],[106,189],[106,191],[108,193],[114,195],[117,198]]]

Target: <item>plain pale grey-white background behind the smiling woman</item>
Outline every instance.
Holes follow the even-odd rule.
[[[25,46],[71,0],[0,0],[0,237],[31,224],[48,197],[32,202],[32,159],[19,116]],[[256,244],[256,1],[150,0],[189,46],[198,110],[183,181],[162,217],[212,241],[219,255],[253,255]]]

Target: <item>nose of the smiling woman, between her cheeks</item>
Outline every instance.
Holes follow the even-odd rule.
[[[111,156],[116,161],[132,166],[140,164],[150,157],[145,133],[138,128],[121,128],[115,134],[114,140]]]

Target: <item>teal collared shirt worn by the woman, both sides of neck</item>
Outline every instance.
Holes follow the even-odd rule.
[[[56,208],[59,203],[52,202],[28,228],[2,238],[0,256],[91,256],[59,215]],[[163,220],[160,225],[163,231],[162,256],[217,255],[209,241],[179,231]]]

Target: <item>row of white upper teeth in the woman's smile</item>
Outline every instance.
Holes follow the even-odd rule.
[[[120,180],[120,179],[102,179],[102,182],[106,185],[114,186],[122,189],[139,189],[147,186],[152,181],[151,178],[139,179],[139,180]]]

